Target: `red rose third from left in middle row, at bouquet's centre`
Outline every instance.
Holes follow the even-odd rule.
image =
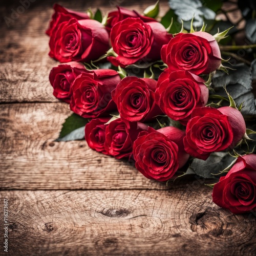
[[[157,81],[150,78],[128,76],[112,92],[121,119],[131,122],[150,120],[162,111],[155,103]]]

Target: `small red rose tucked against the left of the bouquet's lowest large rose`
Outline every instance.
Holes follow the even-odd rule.
[[[106,127],[105,150],[109,155],[121,159],[131,158],[133,155],[133,142],[141,131],[147,130],[143,123],[133,122],[130,129],[120,118],[112,121]]]

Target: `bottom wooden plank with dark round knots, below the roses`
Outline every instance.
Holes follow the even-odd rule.
[[[210,188],[199,189],[200,195],[190,186],[168,191],[1,191],[1,202],[8,199],[8,251],[255,255],[255,217],[232,215],[211,202]],[[3,227],[3,218],[0,222]]]

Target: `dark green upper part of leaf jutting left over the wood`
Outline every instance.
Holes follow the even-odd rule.
[[[80,128],[80,127],[84,128],[84,126],[88,122],[89,122],[89,119],[80,117],[77,114],[73,113],[62,124],[62,129],[60,131],[58,139],[61,139],[61,138],[65,137],[65,136],[67,136],[68,134],[70,134],[71,132],[73,132],[74,130],[76,130],[76,129]]]

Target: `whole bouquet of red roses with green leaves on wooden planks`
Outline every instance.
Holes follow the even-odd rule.
[[[143,15],[117,7],[103,18],[100,10],[54,5],[46,33],[49,55],[62,64],[49,79],[54,96],[75,113],[67,120],[74,131],[63,125],[58,140],[85,137],[93,150],[134,161],[157,181],[180,177],[179,170],[220,175],[214,202],[248,212],[256,207],[256,155],[245,117],[255,118],[256,108],[244,74],[255,70],[239,64],[225,74],[230,66],[222,65],[219,41],[230,29],[213,34],[202,24],[195,31],[198,16],[188,25],[173,6],[160,20],[159,3]]]

